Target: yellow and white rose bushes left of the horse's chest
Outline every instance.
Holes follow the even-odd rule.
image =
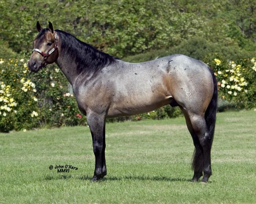
[[[0,59],[0,131],[85,124],[59,69],[31,74],[23,59]]]

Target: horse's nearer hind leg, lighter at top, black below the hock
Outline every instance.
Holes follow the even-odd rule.
[[[211,176],[211,144],[213,135],[209,133],[204,114],[199,115],[188,112],[188,116],[193,130],[197,134],[200,145],[202,146],[204,172],[202,182],[207,182],[208,178]]]

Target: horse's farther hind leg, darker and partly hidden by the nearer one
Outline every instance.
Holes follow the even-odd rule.
[[[197,133],[195,133],[192,127],[192,124],[187,112],[183,108],[181,108],[181,110],[184,113],[184,116],[186,118],[187,129],[189,130],[189,133],[193,139],[193,143],[195,146],[193,162],[192,162],[192,168],[194,169],[194,176],[191,180],[192,182],[195,182],[195,181],[198,181],[198,179],[203,175],[203,164],[204,164],[203,149],[197,137]]]

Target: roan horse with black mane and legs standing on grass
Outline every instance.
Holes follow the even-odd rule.
[[[107,174],[106,118],[136,115],[165,105],[182,110],[195,151],[192,182],[211,176],[211,146],[217,112],[217,82],[211,68],[185,55],[129,63],[95,49],[73,35],[54,30],[49,22],[33,40],[28,61],[37,72],[56,63],[73,88],[80,111],[86,115],[93,140],[95,171],[92,181]]]

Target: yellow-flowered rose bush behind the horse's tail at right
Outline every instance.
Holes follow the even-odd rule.
[[[256,106],[255,58],[239,59],[235,62],[212,56],[207,60],[215,72],[221,98],[231,101],[236,107]]]

